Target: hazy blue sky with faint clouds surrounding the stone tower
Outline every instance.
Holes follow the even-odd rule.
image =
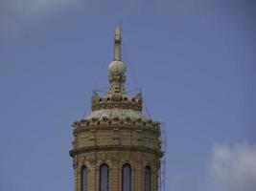
[[[72,126],[106,90],[123,32],[128,90],[166,129],[166,191],[256,190],[256,2],[1,0],[0,190],[73,190]]]

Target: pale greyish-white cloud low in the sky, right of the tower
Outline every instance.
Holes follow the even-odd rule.
[[[255,191],[256,145],[216,145],[205,187],[206,191]]]

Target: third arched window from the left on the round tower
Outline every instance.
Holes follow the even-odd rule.
[[[122,167],[122,191],[131,191],[131,168],[129,164]]]

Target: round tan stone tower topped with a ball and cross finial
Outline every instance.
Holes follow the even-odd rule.
[[[73,124],[75,191],[157,191],[160,123],[143,115],[141,94],[126,92],[119,27],[108,72],[107,94],[93,93],[92,112]]]

